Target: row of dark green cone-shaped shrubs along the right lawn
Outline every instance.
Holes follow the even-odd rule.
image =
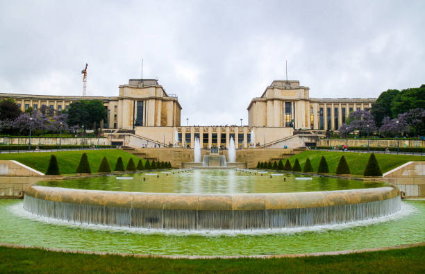
[[[285,165],[283,165],[282,160],[278,163],[274,162],[272,165],[271,162],[258,162],[257,169],[277,169],[282,171],[295,171],[301,172],[301,165],[299,164],[299,160],[295,159],[294,166],[291,166],[289,160],[286,160]],[[311,165],[310,159],[307,157],[306,164],[304,164],[303,172],[314,172],[313,166]],[[317,169],[317,173],[329,173],[328,162],[326,158],[322,156],[319,162],[319,168]],[[349,165],[344,155],[341,156],[340,162],[338,162],[337,169],[335,174],[351,174]],[[378,161],[374,153],[372,153],[367,161],[365,171],[363,172],[364,176],[382,176],[382,171],[379,168]]]

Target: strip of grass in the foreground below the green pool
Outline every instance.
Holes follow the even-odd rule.
[[[0,273],[425,273],[425,246],[279,259],[164,259],[0,248]]]

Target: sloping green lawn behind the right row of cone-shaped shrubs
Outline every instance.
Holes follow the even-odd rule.
[[[319,167],[319,161],[322,156],[326,158],[328,162],[329,171],[335,173],[340,162],[341,156],[344,155],[352,174],[363,175],[367,160],[369,159],[370,153],[355,153],[355,152],[339,152],[339,151],[303,151],[300,154],[294,155],[289,158],[291,164],[294,164],[295,159],[299,160],[301,168],[304,167],[307,157],[310,158],[313,169],[317,171]],[[401,164],[405,164],[409,161],[425,161],[424,156],[412,156],[412,155],[391,155],[391,154],[375,154],[376,160],[378,160],[379,167],[383,173],[395,169]]]

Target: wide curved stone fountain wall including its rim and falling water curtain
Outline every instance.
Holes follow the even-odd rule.
[[[397,212],[397,187],[262,194],[156,194],[33,186],[24,208],[49,218],[134,228],[250,230],[347,223]]]

